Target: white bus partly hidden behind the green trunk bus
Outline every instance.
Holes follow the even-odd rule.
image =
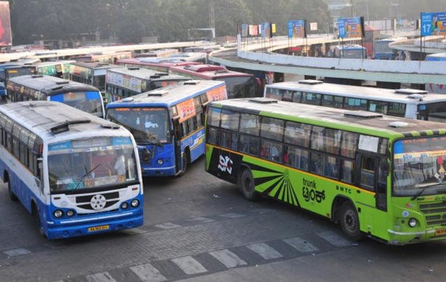
[[[263,95],[302,104],[446,122],[446,95],[417,89],[371,88],[307,79],[267,84]]]

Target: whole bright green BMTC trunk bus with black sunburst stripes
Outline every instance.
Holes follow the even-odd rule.
[[[212,102],[206,171],[339,222],[353,240],[446,239],[446,125],[268,98]]]

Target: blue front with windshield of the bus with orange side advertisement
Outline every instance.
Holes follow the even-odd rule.
[[[176,175],[174,134],[166,107],[107,106],[107,119],[134,136],[145,176]]]

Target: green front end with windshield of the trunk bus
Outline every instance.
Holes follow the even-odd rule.
[[[390,242],[446,238],[446,136],[418,136],[393,144]]]

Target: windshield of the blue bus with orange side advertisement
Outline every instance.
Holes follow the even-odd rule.
[[[111,108],[107,110],[107,119],[130,130],[138,145],[170,143],[166,108]]]

